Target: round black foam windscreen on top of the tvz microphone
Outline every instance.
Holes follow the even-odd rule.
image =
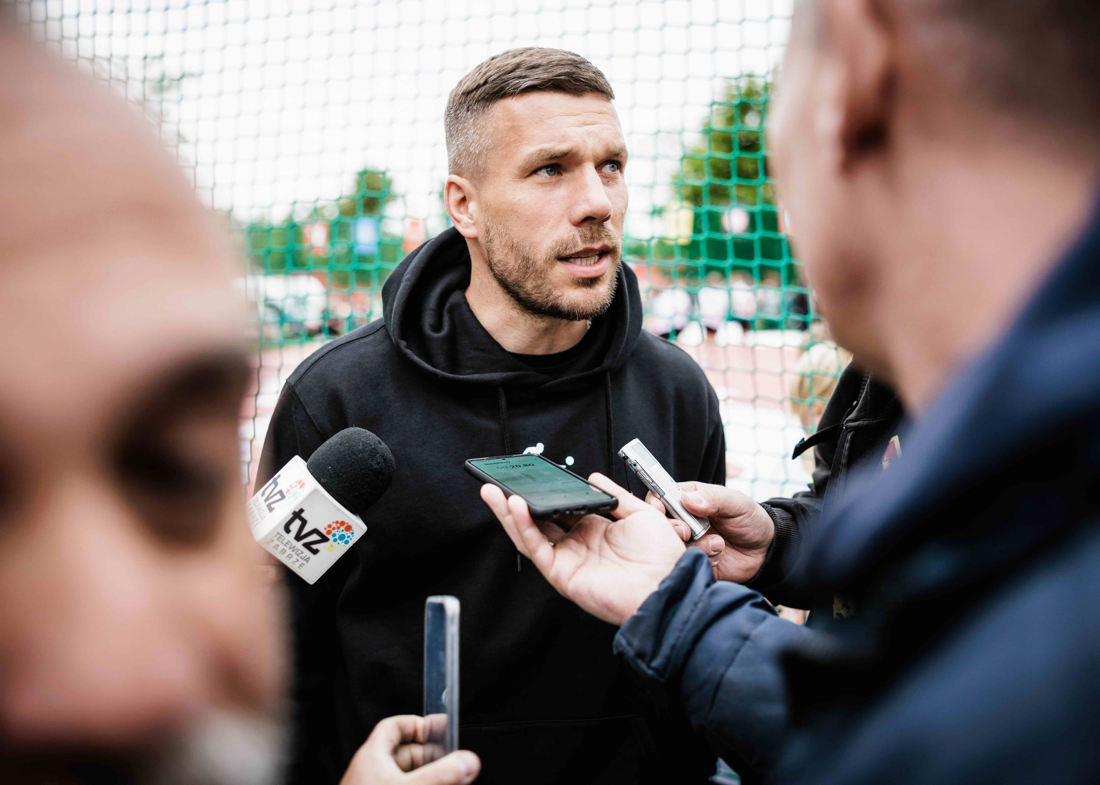
[[[345,428],[306,462],[314,479],[358,516],[386,493],[394,478],[394,454],[364,428]]]

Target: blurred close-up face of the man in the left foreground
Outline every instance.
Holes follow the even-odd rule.
[[[0,106],[0,767],[170,782],[280,668],[229,253],[140,119],[2,19]]]

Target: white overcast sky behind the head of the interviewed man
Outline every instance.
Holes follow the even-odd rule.
[[[131,98],[183,77],[158,112],[202,197],[283,218],[387,169],[395,219],[440,214],[442,113],[471,67],[557,46],[609,77],[631,153],[631,233],[664,203],[723,78],[770,71],[791,0],[20,0],[40,35]],[[147,99],[147,93],[146,93]]]

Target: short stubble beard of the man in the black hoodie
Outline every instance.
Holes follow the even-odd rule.
[[[603,286],[604,296],[588,301],[572,301],[571,298],[563,297],[551,284],[552,273],[560,264],[558,258],[575,253],[579,247],[601,244],[610,246],[610,265],[607,272],[598,278],[573,278],[573,281],[581,289],[597,289]],[[606,224],[580,228],[573,239],[558,243],[541,257],[531,253],[518,239],[486,225],[483,247],[493,278],[517,306],[531,316],[584,321],[605,313],[615,299],[618,269],[623,259],[623,240]]]

